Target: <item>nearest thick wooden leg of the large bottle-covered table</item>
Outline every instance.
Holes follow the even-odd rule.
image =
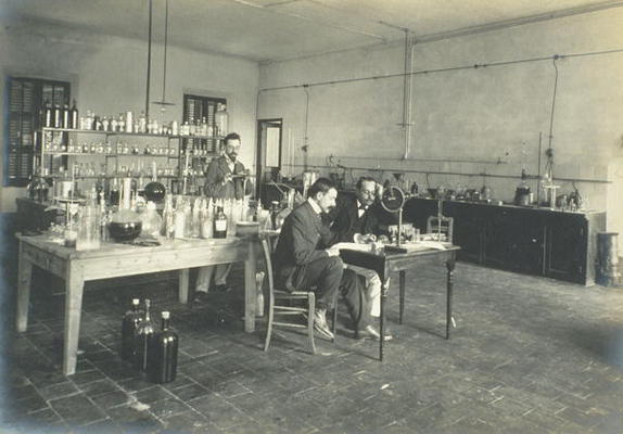
[[[78,359],[78,340],[80,337],[80,314],[82,311],[82,291],[85,281],[81,270],[67,264],[65,275],[65,342],[63,353],[63,373],[76,372]]]

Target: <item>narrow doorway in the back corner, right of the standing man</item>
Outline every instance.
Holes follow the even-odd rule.
[[[256,197],[265,204],[267,199],[267,182],[278,181],[281,171],[281,127],[282,119],[258,119],[257,120],[257,159],[255,162],[255,173],[257,174]]]

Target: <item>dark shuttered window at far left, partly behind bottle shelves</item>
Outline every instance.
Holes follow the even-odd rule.
[[[7,99],[3,183],[4,187],[25,187],[37,158],[35,131],[41,127],[39,108],[44,102],[60,106],[68,102],[69,84],[9,77]]]

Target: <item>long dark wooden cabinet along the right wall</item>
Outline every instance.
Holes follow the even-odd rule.
[[[437,202],[411,199],[405,221],[425,231]],[[606,213],[564,213],[512,205],[444,202],[454,217],[454,243],[460,260],[585,285],[595,282],[596,239]]]

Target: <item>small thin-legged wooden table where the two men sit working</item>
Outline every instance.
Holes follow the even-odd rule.
[[[379,359],[383,360],[383,346],[385,337],[385,303],[390,290],[390,275],[399,272],[399,302],[400,311],[398,322],[403,323],[405,310],[405,270],[415,268],[425,259],[442,263],[446,268],[446,339],[450,337],[450,323],[453,318],[453,285],[456,253],[458,246],[448,246],[445,250],[427,248],[408,253],[371,253],[361,251],[340,250],[340,257],[344,263],[368,268],[379,273],[381,282],[381,341],[379,343]]]

